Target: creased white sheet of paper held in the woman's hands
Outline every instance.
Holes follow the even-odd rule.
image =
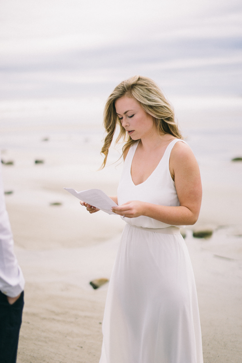
[[[93,205],[94,207],[97,207],[101,209],[101,211],[108,214],[116,215],[116,213],[111,212],[110,209],[111,207],[117,207],[117,204],[114,203],[114,201],[109,196],[107,196],[107,194],[105,194],[101,189],[87,189],[81,192],[77,192],[75,189],[72,188],[64,189],[74,195],[74,197],[82,200],[83,202]]]

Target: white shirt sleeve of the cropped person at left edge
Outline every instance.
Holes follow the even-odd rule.
[[[24,276],[13,252],[13,236],[5,206],[0,165],[0,290],[15,297],[24,290]]]

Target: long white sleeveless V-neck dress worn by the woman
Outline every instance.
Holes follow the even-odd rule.
[[[118,204],[140,200],[178,206],[165,150],[155,171],[135,185],[130,147],[118,187]],[[202,363],[197,293],[179,226],[149,217],[125,218],[110,278],[99,363]]]

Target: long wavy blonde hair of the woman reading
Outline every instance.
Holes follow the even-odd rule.
[[[182,139],[181,133],[174,119],[173,107],[167,101],[159,86],[152,81],[152,79],[147,77],[130,77],[115,87],[114,91],[108,97],[104,107],[103,125],[107,135],[104,139],[104,144],[101,150],[101,154],[104,154],[104,160],[101,168],[104,168],[106,164],[108,149],[114,137],[117,124],[120,126],[120,132],[115,143],[118,143],[120,139],[126,141],[123,146],[123,153],[137,141],[132,140],[131,137],[127,135],[126,130],[122,126],[122,123],[116,114],[115,101],[124,95],[136,99],[141,107],[143,107],[144,111],[154,118],[157,132],[159,132],[159,134],[171,134],[176,138]]]

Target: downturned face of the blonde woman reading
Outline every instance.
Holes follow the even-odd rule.
[[[123,96],[115,102],[116,113],[133,140],[149,137],[156,132],[155,122],[134,98]]]

